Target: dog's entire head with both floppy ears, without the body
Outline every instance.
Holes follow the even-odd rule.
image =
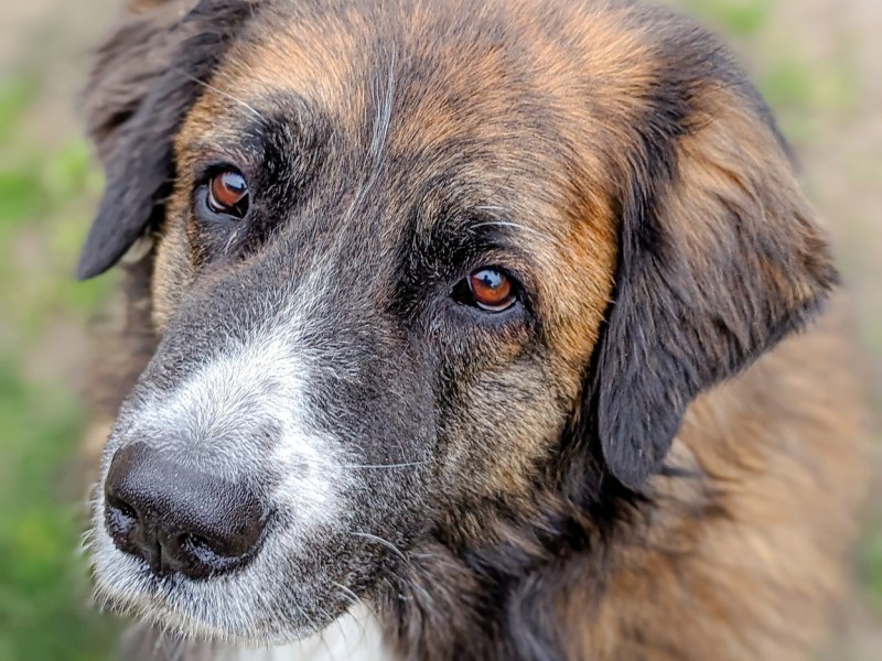
[[[297,638],[429,535],[643,489],[836,277],[753,88],[630,3],[142,1],[87,99],[80,275],[153,241],[161,337],[96,579],[189,633]]]

